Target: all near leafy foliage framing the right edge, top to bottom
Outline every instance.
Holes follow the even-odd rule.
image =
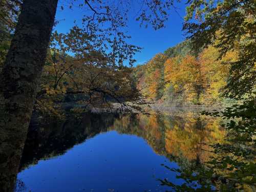
[[[193,49],[209,45],[217,48],[218,59],[229,65],[223,95],[239,100],[223,111],[202,112],[228,120],[223,124],[227,141],[208,143],[212,148],[211,159],[191,170],[171,169],[185,181],[182,185],[160,181],[176,191],[255,191],[255,1],[191,0],[188,3],[183,29]],[[224,59],[230,52],[234,53],[233,59]]]

